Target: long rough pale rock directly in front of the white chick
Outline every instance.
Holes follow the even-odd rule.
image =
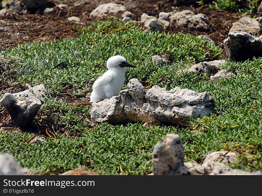
[[[138,79],[131,79],[118,96],[92,104],[91,119],[105,123],[157,120],[185,126],[189,120],[214,112],[215,101],[208,92],[196,93],[175,87],[167,91],[157,85],[146,91]]]

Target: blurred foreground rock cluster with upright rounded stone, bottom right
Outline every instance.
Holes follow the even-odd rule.
[[[238,161],[235,152],[209,153],[201,165],[195,161],[184,163],[184,156],[184,147],[179,135],[167,134],[154,147],[153,173],[149,175],[262,175],[260,171],[247,172],[228,167],[226,164]]]

